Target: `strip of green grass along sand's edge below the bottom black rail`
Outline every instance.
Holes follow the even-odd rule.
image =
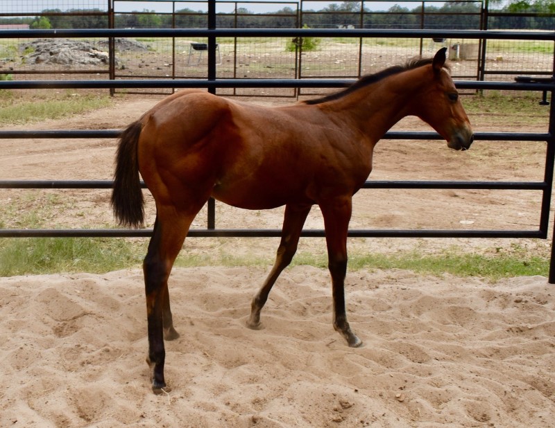
[[[0,240],[0,276],[56,274],[72,272],[104,273],[118,269],[139,269],[146,253],[146,242],[123,238],[6,238]],[[234,256],[189,253],[187,249],[176,267],[223,266],[268,267],[273,255]],[[327,268],[325,255],[298,253],[293,266]],[[499,253],[493,256],[461,253],[454,249],[438,254],[406,251],[395,254],[351,254],[349,271],[407,269],[422,275],[460,277],[477,276],[495,282],[515,276],[547,276],[549,258]]]

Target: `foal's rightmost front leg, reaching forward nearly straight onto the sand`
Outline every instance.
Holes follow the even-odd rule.
[[[345,337],[349,346],[357,348],[362,345],[362,341],[352,332],[345,310],[347,233],[352,211],[351,198],[341,197],[325,204],[320,204],[320,208],[324,217],[328,267],[332,276],[334,329]]]

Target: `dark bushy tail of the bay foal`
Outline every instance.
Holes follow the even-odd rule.
[[[122,226],[142,226],[144,220],[144,198],[139,179],[137,143],[142,123],[137,121],[121,133],[116,154],[112,209]]]

